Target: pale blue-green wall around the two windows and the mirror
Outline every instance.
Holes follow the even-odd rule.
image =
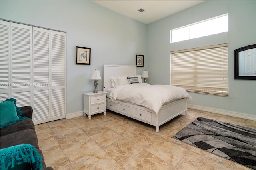
[[[170,43],[170,30],[228,13],[228,33]],[[229,97],[190,93],[188,104],[256,116],[256,81],[234,80],[234,50],[256,43],[256,1],[206,1],[147,25],[151,84],[170,84],[170,51],[229,44]],[[159,76],[161,75],[161,76]]]

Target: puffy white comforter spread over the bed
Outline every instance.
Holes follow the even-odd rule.
[[[158,114],[164,103],[173,99],[192,97],[186,90],[172,85],[126,84],[116,87],[109,95],[114,102],[129,101]]]

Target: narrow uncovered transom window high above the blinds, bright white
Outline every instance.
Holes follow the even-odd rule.
[[[228,14],[170,30],[170,43],[228,31]]]

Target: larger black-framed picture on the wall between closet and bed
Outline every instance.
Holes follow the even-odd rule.
[[[91,64],[91,49],[76,46],[76,64]]]

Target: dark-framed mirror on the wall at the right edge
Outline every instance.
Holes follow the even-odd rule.
[[[234,50],[234,79],[256,80],[256,44]]]

